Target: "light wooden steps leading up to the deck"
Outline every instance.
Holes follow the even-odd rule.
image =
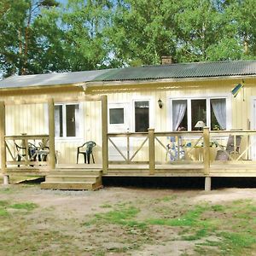
[[[102,188],[102,169],[55,169],[45,177],[41,189],[96,190]]]

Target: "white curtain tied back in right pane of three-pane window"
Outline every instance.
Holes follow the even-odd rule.
[[[218,121],[218,125],[222,130],[226,129],[226,100],[213,99],[211,100],[212,109]]]

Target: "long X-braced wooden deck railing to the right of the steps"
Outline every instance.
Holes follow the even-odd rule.
[[[121,148],[114,138],[123,138]],[[110,147],[119,154],[118,161],[111,160]],[[148,164],[150,174],[160,165],[172,169],[175,164],[197,164],[208,175],[212,164],[251,164],[254,159],[256,131],[209,131],[205,127],[203,131],[148,129],[148,132],[108,133],[108,165]]]

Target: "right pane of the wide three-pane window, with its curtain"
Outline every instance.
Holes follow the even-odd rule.
[[[226,99],[211,100],[211,130],[226,129]]]

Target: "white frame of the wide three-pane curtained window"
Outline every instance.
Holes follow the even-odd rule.
[[[192,100],[206,100],[207,101],[207,126],[211,128],[211,100],[212,99],[225,99],[226,100],[226,130],[231,128],[231,99],[229,95],[212,95],[212,96],[183,96],[183,97],[169,97],[169,111],[167,111],[167,120],[169,120],[169,127],[173,131],[172,127],[172,101],[186,100],[188,111],[188,131],[192,131],[191,127],[191,101]]]

